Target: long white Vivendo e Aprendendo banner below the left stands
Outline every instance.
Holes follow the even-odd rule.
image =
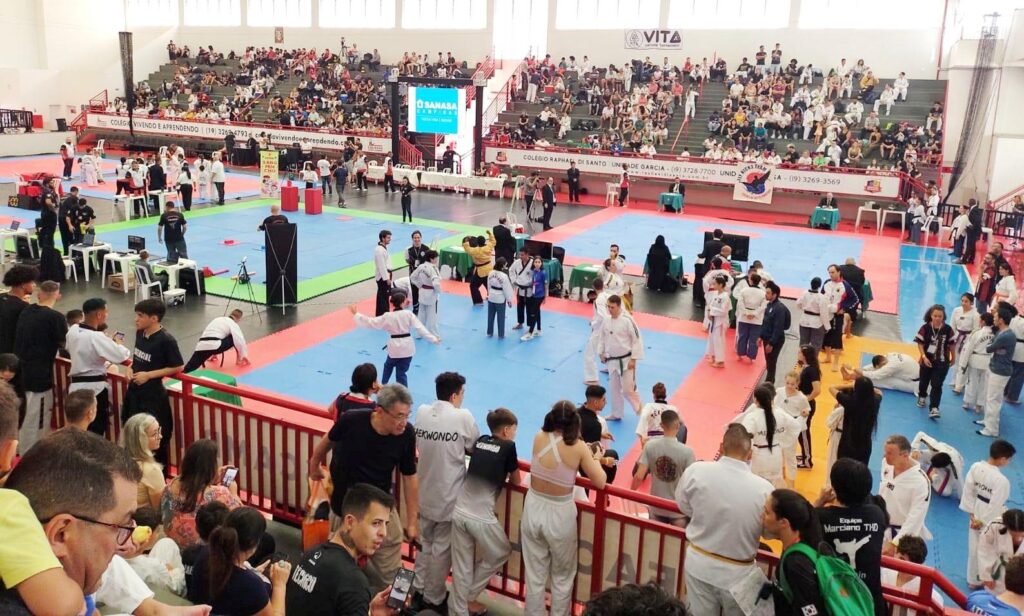
[[[267,126],[246,126],[238,124],[219,124],[216,122],[190,122],[185,120],[155,120],[150,118],[134,119],[135,131],[156,133],[172,137],[191,137],[193,139],[212,139],[222,141],[228,133],[234,135],[237,141],[244,143],[249,137],[265,133],[270,144],[288,147],[293,143],[308,144],[316,149],[344,149],[349,137],[362,141],[362,148],[369,153],[387,153],[391,151],[389,137],[366,137],[347,135],[344,133],[329,133],[311,130],[271,128]],[[90,113],[86,119],[89,128],[127,131],[128,117],[112,114]]]

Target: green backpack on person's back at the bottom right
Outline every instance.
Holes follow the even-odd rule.
[[[807,543],[795,543],[782,553],[778,562],[778,581],[787,601],[793,601],[793,590],[785,581],[782,563],[794,552],[806,556],[814,564],[818,577],[818,590],[828,616],[873,616],[874,599],[860,579],[860,575],[846,560],[818,554]]]

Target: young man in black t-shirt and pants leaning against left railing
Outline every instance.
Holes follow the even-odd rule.
[[[171,403],[164,389],[164,377],[181,371],[185,361],[181,358],[178,342],[164,329],[161,321],[167,307],[157,299],[142,300],[135,304],[135,349],[132,351],[131,383],[121,405],[121,421],[140,412],[157,417],[160,424],[160,448],[157,461],[167,468],[168,443],[174,432]]]

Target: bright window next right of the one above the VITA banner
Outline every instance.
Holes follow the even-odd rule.
[[[790,0],[669,0],[669,28],[765,30],[788,25]]]

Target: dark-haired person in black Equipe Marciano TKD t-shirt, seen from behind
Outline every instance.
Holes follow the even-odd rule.
[[[880,507],[869,503],[871,472],[863,463],[843,457],[833,465],[831,489],[818,497],[818,520],[824,541],[846,559],[874,598],[876,616],[888,614],[882,599],[882,544],[888,526]]]

